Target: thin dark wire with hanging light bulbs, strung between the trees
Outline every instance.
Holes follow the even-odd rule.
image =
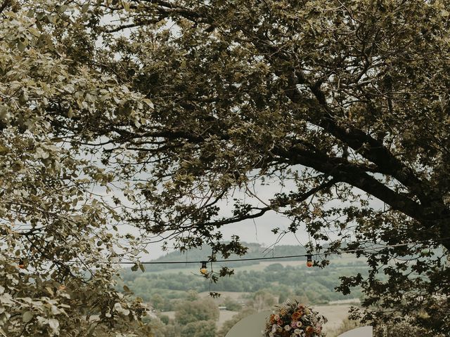
[[[342,249],[340,251],[329,252],[329,253],[305,253],[299,255],[285,255],[285,256],[264,256],[260,258],[230,258],[230,259],[222,259],[222,260],[191,260],[191,261],[148,261],[148,262],[139,262],[139,261],[98,261],[98,264],[110,264],[110,265],[172,265],[172,264],[188,264],[188,263],[226,263],[226,262],[240,262],[240,261],[257,261],[257,260],[281,260],[285,258],[311,258],[312,256],[329,256],[335,254],[345,254],[345,253],[380,253],[383,249],[396,248],[401,246],[411,246],[414,244],[424,244],[427,242],[445,242],[448,241],[450,237],[444,237],[442,239],[428,239],[417,242],[408,242],[405,244],[390,244],[383,245],[380,244],[378,247],[374,247],[371,249]],[[86,262],[86,260],[52,260],[46,258],[26,258],[27,260],[40,260],[40,261],[48,261],[53,263],[77,263],[77,262]],[[17,260],[17,259],[16,259]],[[19,260],[24,260],[24,258],[19,258]],[[94,262],[94,261],[92,261]]]

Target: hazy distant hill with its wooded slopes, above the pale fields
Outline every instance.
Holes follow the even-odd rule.
[[[293,256],[303,255],[306,252],[300,246],[276,246],[275,251],[264,251],[259,244],[248,244],[249,252],[245,258],[259,258],[264,256]],[[167,256],[158,258],[158,262],[173,262],[179,260],[200,261],[207,259],[210,251],[207,249],[195,249],[188,253],[172,252]],[[233,256],[231,258],[238,258]],[[200,264],[188,263],[169,265],[146,265],[146,272],[131,272],[124,270],[122,279],[136,296],[146,301],[158,294],[165,297],[166,307],[176,298],[183,298],[189,290],[198,293],[203,291],[236,291],[243,293],[255,293],[268,289],[275,296],[290,294],[303,296],[309,302],[328,303],[330,300],[342,300],[346,297],[335,292],[335,287],[340,284],[339,277],[354,275],[354,273],[366,273],[367,267],[363,260],[345,254],[332,256],[330,265],[321,269],[319,267],[307,267],[306,258],[288,258],[262,261],[242,261],[233,263],[214,263],[213,270],[218,272],[221,266],[233,268],[235,274],[231,277],[219,279],[217,284],[210,283],[200,275]],[[211,271],[211,265],[208,264]],[[359,297],[361,292],[355,289],[350,297]]]

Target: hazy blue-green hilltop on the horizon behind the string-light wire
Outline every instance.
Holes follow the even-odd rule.
[[[281,245],[275,246],[273,249],[267,249],[261,244],[255,243],[243,243],[244,246],[248,247],[248,252],[245,256],[238,256],[236,254],[232,254],[228,259],[238,259],[238,258],[264,258],[264,257],[272,257],[272,256],[294,256],[294,255],[304,255],[306,254],[305,249],[298,245]],[[191,249],[189,251],[180,252],[180,251],[172,251],[171,253],[167,253],[165,256],[161,256],[155,260],[151,260],[148,262],[175,262],[175,261],[202,261],[208,260],[211,256],[211,248],[210,246],[203,246],[199,249]],[[221,260],[221,256],[217,256],[218,260]],[[283,261],[286,260],[298,260],[298,258],[283,258]],[[271,262],[279,261],[278,259],[271,260]],[[250,260],[250,261],[238,261],[238,262],[230,262],[227,263],[229,267],[240,267],[243,265],[256,265],[259,261]],[[162,264],[162,265],[146,265],[146,270],[148,272],[157,272],[160,270],[168,270],[168,269],[180,269],[180,268],[192,268],[192,264],[183,264],[183,263],[174,263],[174,264]]]

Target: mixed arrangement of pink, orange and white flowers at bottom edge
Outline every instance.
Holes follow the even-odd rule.
[[[328,320],[307,305],[287,300],[266,319],[265,337],[324,337]]]

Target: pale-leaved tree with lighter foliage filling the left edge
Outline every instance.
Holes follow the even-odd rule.
[[[55,131],[60,109],[67,118],[71,107],[88,116],[122,109],[117,100],[143,104],[77,60],[94,48],[83,44],[84,9],[0,5],[0,336],[148,336],[146,308],[115,289],[115,263],[140,246],[116,234],[120,217],[98,195],[113,174]]]

